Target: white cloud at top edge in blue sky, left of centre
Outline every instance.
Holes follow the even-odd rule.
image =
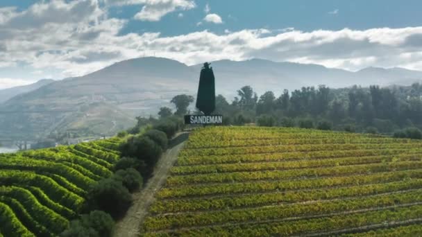
[[[195,8],[193,0],[105,0],[108,6],[143,5],[133,17],[140,21],[160,21],[164,15],[176,10]]]

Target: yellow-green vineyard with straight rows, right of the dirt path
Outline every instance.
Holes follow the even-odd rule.
[[[298,128],[204,128],[144,236],[422,235],[422,142]]]

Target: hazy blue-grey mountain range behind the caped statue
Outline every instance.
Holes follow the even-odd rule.
[[[421,71],[367,68],[357,72],[316,64],[269,60],[212,62],[216,93],[232,99],[244,85],[258,94],[303,86],[382,85],[422,79]],[[72,131],[79,136],[114,134],[135,124],[135,116],[155,115],[177,94],[196,94],[202,64],[187,66],[167,58],[137,58],[86,76],[51,82],[0,105],[0,135],[43,137]],[[0,137],[1,138],[1,137]]]

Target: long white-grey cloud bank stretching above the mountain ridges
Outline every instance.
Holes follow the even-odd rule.
[[[78,17],[71,15],[82,6],[84,10]],[[0,69],[25,64],[26,68],[42,72],[37,74],[39,78],[47,77],[51,71],[55,78],[83,76],[121,60],[152,55],[186,64],[263,58],[350,70],[369,66],[422,70],[422,26],[313,31],[263,28],[224,33],[198,30],[173,36],[158,32],[123,35],[121,30],[128,21],[110,18],[107,10],[94,0],[43,1],[24,11],[0,8],[0,12],[3,12],[0,14],[0,49],[6,49],[0,50]],[[62,19],[53,21],[49,15],[62,15]],[[30,16],[37,19],[30,21]],[[10,79],[10,76],[3,77]],[[7,83],[10,84],[10,80]],[[3,82],[3,87],[5,84]]]

